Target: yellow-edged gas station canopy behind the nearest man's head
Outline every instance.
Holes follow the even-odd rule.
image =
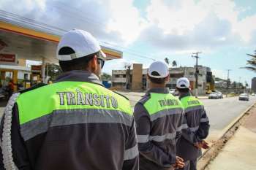
[[[1,53],[15,54],[17,58],[31,61],[58,63],[56,48],[60,36],[37,31],[31,28],[0,20],[0,42],[5,47]],[[0,46],[1,46],[0,44]],[[122,58],[123,53],[109,47],[103,47],[107,60]]]

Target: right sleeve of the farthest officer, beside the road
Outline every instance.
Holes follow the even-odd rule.
[[[200,117],[200,125],[197,131],[197,137],[199,139],[206,139],[206,137],[208,136],[209,133],[209,129],[210,129],[210,124],[209,124],[209,120],[208,117],[206,115],[206,110],[203,109],[203,114]]]

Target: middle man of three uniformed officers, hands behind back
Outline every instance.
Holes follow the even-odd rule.
[[[183,160],[176,156],[176,139],[181,136],[184,109],[178,98],[165,88],[169,77],[166,63],[151,63],[148,69],[150,89],[135,105],[140,170],[184,166]]]

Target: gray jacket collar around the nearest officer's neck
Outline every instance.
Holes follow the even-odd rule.
[[[96,74],[83,70],[72,70],[70,72],[64,72],[64,74],[59,76],[55,82],[64,81],[92,82],[94,84],[102,85],[102,82],[99,81],[99,77],[97,77]]]

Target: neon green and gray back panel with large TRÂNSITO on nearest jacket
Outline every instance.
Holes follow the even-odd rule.
[[[20,132],[25,141],[57,125],[119,121],[132,124],[132,109],[126,98],[89,82],[47,85],[20,94],[16,102]],[[77,116],[71,117],[70,113]]]

